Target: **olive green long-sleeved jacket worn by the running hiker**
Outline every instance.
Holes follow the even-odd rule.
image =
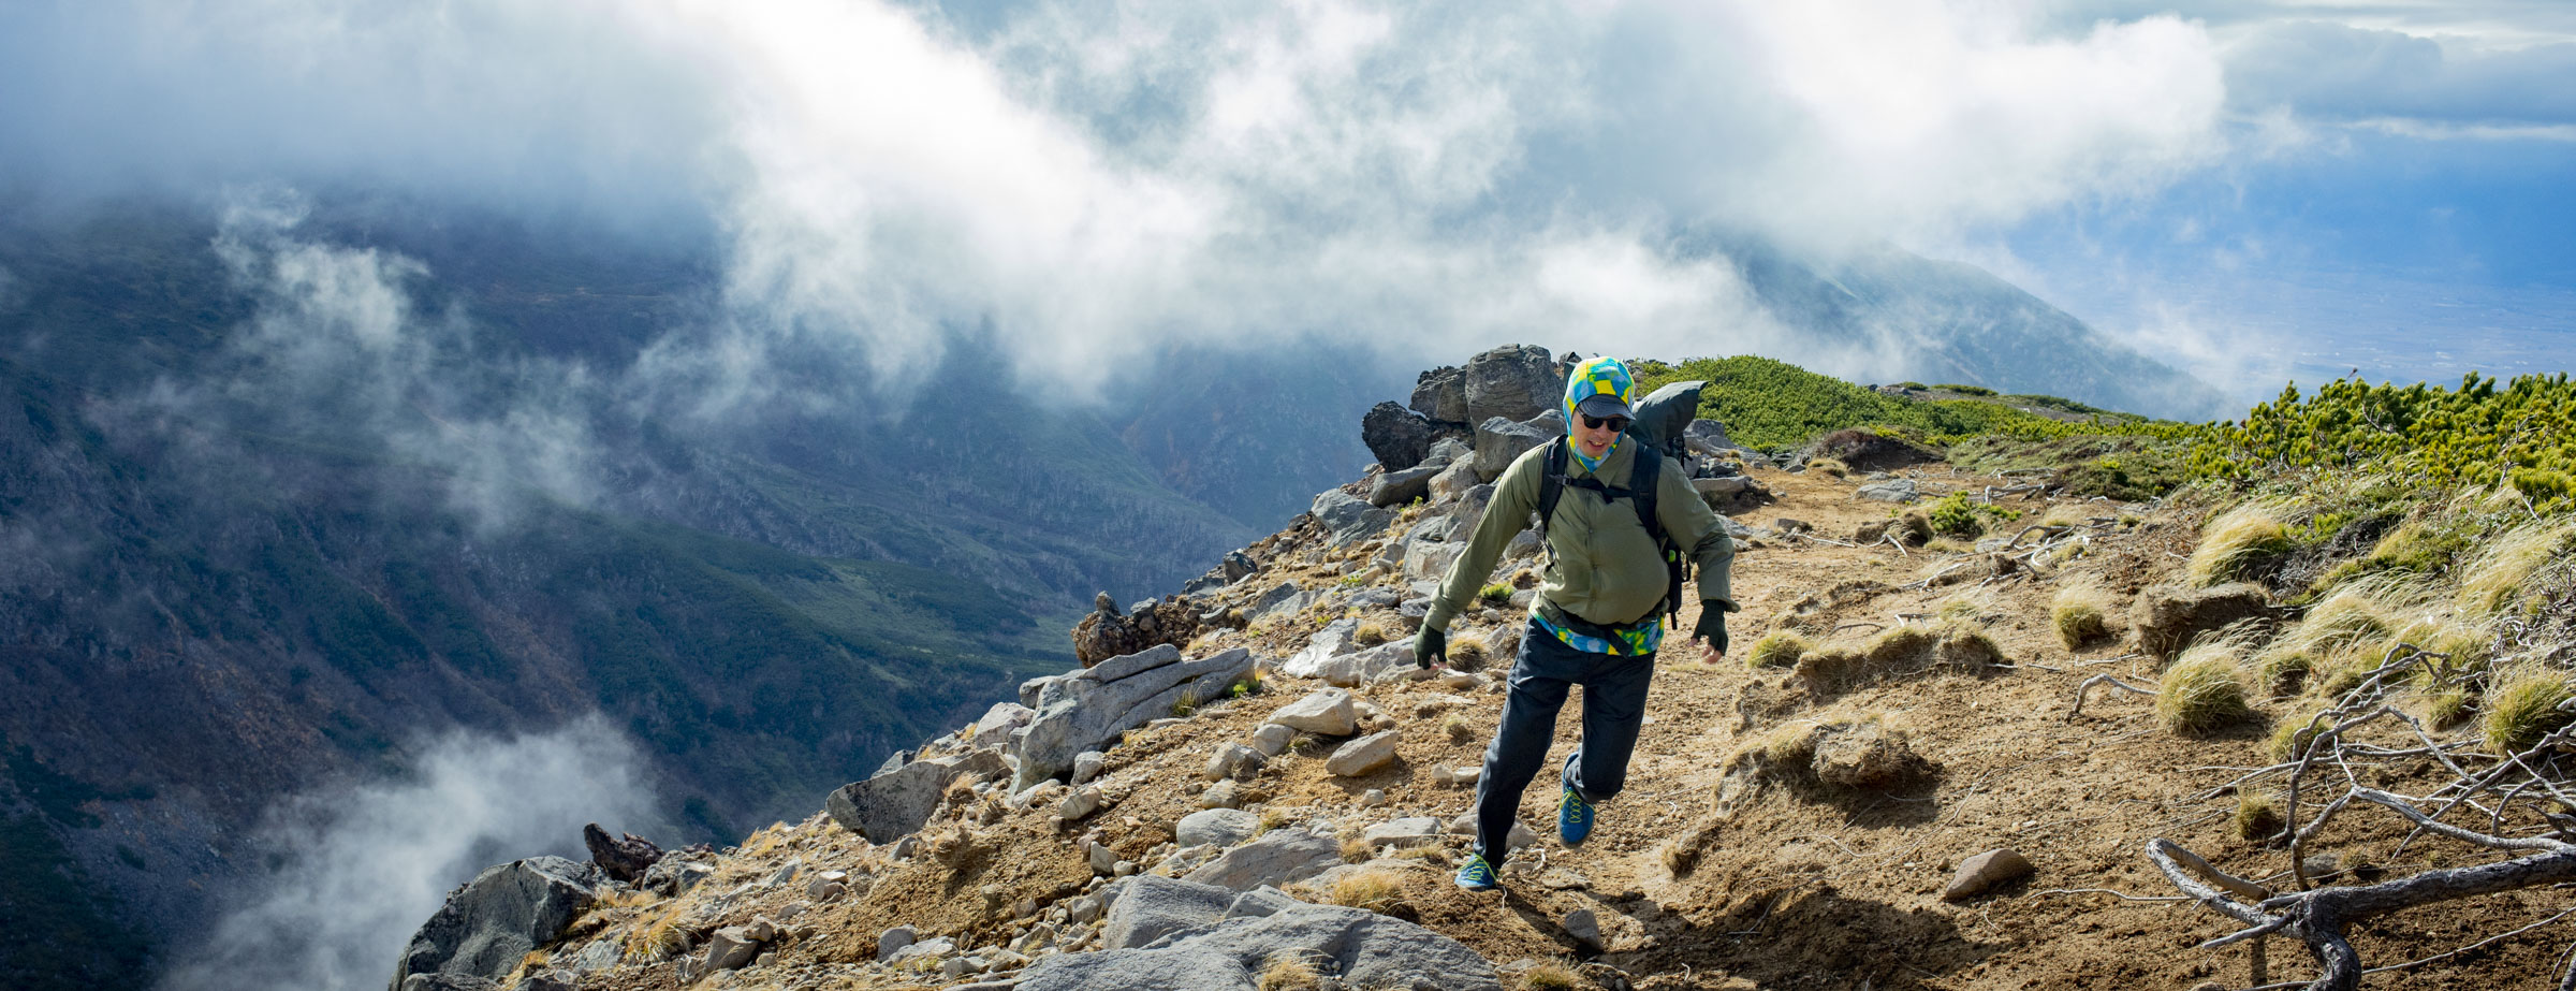
[[[1620,438],[1600,471],[1584,471],[1582,458],[1566,456],[1566,476],[1600,476],[1602,484],[1625,489],[1636,466],[1636,438]],[[1466,607],[1484,579],[1494,574],[1494,561],[1520,530],[1528,530],[1538,512],[1538,484],[1548,471],[1548,448],[1538,445],[1502,468],[1494,484],[1494,502],[1476,523],[1466,553],[1450,564],[1440,579],[1440,597],[1432,600],[1422,625],[1448,631],[1450,618]],[[1700,605],[1734,613],[1731,569],[1736,543],[1726,538],[1718,515],[1708,510],[1700,492],[1667,458],[1656,476],[1656,517],[1664,533],[1690,553],[1700,569]],[[1636,517],[1628,499],[1602,502],[1600,492],[1566,486],[1556,497],[1556,517],[1548,520],[1548,571],[1538,582],[1538,597],[1556,607],[1602,625],[1628,625],[1646,618],[1664,600],[1664,559],[1654,551],[1654,538]]]

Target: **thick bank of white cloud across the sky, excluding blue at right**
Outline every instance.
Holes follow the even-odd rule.
[[[981,8],[979,8],[981,10]],[[39,3],[0,167],[394,188],[729,245],[757,368],[958,327],[1077,391],[1285,335],[1811,358],[1680,227],[1940,245],[2223,154],[2221,46],[1996,3]],[[1710,347],[1710,340],[1728,345]]]

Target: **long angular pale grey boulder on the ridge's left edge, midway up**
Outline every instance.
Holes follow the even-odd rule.
[[[1146,656],[1113,656],[1082,672],[1041,680],[1036,690],[1023,685],[1023,700],[1036,700],[1038,716],[1012,734],[1012,754],[1020,775],[1012,788],[1028,788],[1046,777],[1064,775],[1074,757],[1105,746],[1113,736],[1172,716],[1182,698],[1216,700],[1234,682],[1252,674],[1252,651],[1231,651],[1182,662],[1180,649],[1154,649]],[[917,826],[914,826],[917,829]]]

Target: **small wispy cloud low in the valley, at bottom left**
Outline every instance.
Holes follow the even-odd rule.
[[[551,734],[420,741],[410,772],[270,808],[255,847],[278,867],[175,955],[170,991],[381,988],[448,888],[510,857],[587,860],[582,824],[649,831],[641,759],[598,718]]]

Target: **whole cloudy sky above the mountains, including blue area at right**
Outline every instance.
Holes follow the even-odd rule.
[[[2244,402],[2561,371],[2568,178],[2568,3],[0,10],[0,188],[714,239],[732,389],[786,335],[894,376],[953,327],[1074,394],[1283,337],[1883,368],[1672,247],[1708,227],[1978,263]]]

